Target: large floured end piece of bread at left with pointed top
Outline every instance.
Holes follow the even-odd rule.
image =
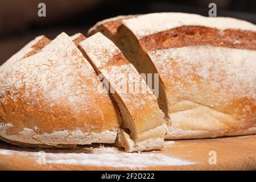
[[[67,34],[1,69],[0,78],[0,136],[7,142],[42,147],[115,142],[118,109]]]

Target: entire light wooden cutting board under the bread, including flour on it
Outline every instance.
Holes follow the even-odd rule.
[[[0,169],[256,170],[256,135],[167,141],[160,151],[129,154],[112,146],[46,150],[0,142]]]

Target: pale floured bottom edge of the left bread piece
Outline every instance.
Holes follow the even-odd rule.
[[[0,123],[1,137],[8,141],[28,143],[41,146],[73,146],[73,144],[92,144],[92,143],[114,143],[117,138],[118,129],[105,130],[98,133],[82,132],[77,129],[71,133],[68,130],[54,131],[53,133],[38,134],[35,127],[33,129],[24,128],[18,134],[8,134],[11,124]],[[60,143],[61,141],[61,143]]]

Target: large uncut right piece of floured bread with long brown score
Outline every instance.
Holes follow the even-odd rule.
[[[155,13],[122,20],[114,36],[140,73],[159,73],[167,139],[256,133],[254,24]]]

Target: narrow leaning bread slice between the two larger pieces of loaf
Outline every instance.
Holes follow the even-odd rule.
[[[164,114],[133,65],[101,33],[87,38],[79,47],[118,104],[122,116],[118,146],[129,152],[161,148],[166,133]]]

